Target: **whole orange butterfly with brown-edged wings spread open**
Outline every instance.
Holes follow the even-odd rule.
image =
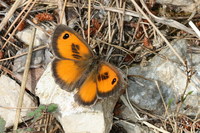
[[[98,98],[113,95],[122,87],[119,70],[95,55],[87,42],[73,29],[58,25],[52,37],[55,82],[66,91],[78,88],[75,101],[92,105]]]

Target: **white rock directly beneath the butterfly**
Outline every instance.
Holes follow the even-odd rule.
[[[100,100],[92,107],[83,107],[74,101],[74,93],[62,90],[52,77],[51,63],[36,86],[41,104],[55,103],[59,112],[55,116],[66,133],[107,133],[112,126],[112,112],[119,96]]]

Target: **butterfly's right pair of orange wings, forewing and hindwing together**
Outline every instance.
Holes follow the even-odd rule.
[[[120,89],[121,85],[122,78],[117,68],[107,62],[101,62],[80,86],[75,99],[82,105],[92,105],[97,96],[108,97]]]

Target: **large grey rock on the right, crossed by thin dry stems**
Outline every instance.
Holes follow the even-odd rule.
[[[200,109],[200,59],[199,55],[192,55],[187,53],[188,42],[186,40],[176,40],[172,42],[174,49],[185,60],[189,68],[192,65],[196,73],[192,76],[191,82],[188,84],[186,93],[192,91],[183,103],[181,112],[187,115],[196,115]],[[167,57],[168,59],[155,56],[147,66],[134,66],[129,69],[129,75],[139,75],[139,77],[132,76],[129,80],[128,94],[130,100],[136,103],[139,107],[162,114],[164,109],[161,96],[155,81],[158,82],[161,94],[164,98],[165,104],[170,104],[169,111],[175,111],[177,102],[180,101],[181,96],[186,87],[186,71],[178,58],[169,48],[163,49],[159,55]],[[184,109],[184,107],[190,108]]]

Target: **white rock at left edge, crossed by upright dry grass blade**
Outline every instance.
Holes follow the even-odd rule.
[[[20,86],[13,79],[6,75],[0,77],[0,116],[6,121],[6,127],[12,126],[15,120],[15,108],[17,107],[19,92]],[[6,107],[11,107],[13,109]],[[22,107],[34,107],[33,101],[26,93],[24,95]],[[28,111],[30,111],[30,109],[22,109],[21,117],[26,116]]]

